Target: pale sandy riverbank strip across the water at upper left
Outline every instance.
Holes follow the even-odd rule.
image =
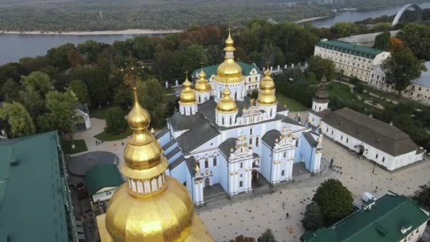
[[[3,34],[14,35],[161,35],[169,33],[181,33],[182,30],[104,30],[104,31],[5,31],[0,30]]]

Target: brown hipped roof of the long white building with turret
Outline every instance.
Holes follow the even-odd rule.
[[[349,108],[328,113],[322,122],[392,156],[400,156],[418,149],[409,135],[397,127]]]

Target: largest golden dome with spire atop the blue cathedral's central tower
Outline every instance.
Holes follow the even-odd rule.
[[[242,68],[234,61],[233,52],[236,49],[233,47],[233,43],[229,30],[226,47],[224,48],[226,56],[224,57],[224,61],[219,64],[218,69],[216,69],[216,76],[214,76],[214,80],[220,83],[226,81],[226,78],[228,79],[228,83],[240,83],[245,81]]]

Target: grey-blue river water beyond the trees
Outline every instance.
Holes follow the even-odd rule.
[[[430,3],[419,4],[419,6],[430,8]],[[401,6],[377,11],[344,11],[338,13],[335,17],[314,21],[313,25],[316,27],[331,26],[339,22],[355,22],[365,18],[394,15],[400,8]],[[0,33],[0,64],[18,62],[22,57],[45,55],[50,48],[64,45],[65,43],[79,44],[91,39],[112,44],[115,40],[125,40],[134,38],[134,36],[136,35],[20,35]]]

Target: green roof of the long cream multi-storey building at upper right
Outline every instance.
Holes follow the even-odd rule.
[[[320,41],[317,43],[317,46],[369,59],[375,59],[377,54],[383,52],[383,50],[365,47],[361,45],[352,45],[339,40]]]

